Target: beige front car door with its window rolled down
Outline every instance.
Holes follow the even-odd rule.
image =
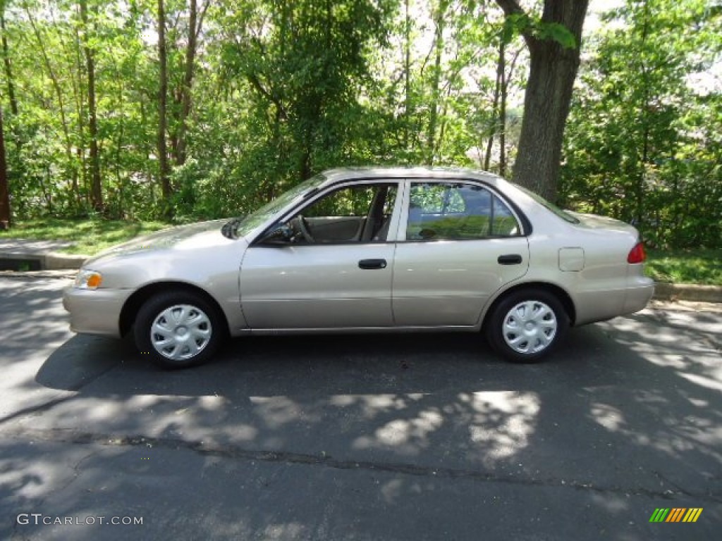
[[[240,270],[248,325],[262,329],[388,327],[399,182],[326,190],[283,224],[284,242],[255,242]],[[398,221],[398,219],[397,219]]]

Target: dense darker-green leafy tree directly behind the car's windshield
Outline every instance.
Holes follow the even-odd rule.
[[[261,1],[225,14],[222,27],[237,38],[222,45],[222,69],[248,89],[248,135],[261,166],[252,170],[267,195],[269,182],[295,183],[355,158],[348,120],[360,116],[367,54],[386,42],[387,4]]]

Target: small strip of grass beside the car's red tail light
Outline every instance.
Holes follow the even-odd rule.
[[[722,286],[722,250],[647,250],[645,269],[656,281]]]

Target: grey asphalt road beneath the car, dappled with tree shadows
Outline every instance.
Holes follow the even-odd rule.
[[[163,372],[69,333],[66,283],[0,277],[0,539],[719,539],[720,309],[575,329],[535,366],[373,335]]]

